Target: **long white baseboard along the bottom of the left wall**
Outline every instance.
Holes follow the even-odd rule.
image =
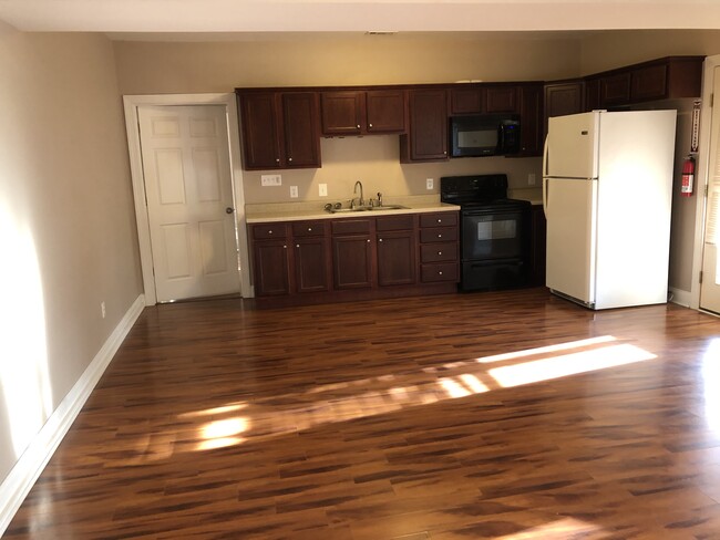
[[[144,307],[145,295],[141,294],[0,485],[0,537],[58,449]]]

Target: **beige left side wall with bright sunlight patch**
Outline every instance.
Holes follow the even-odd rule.
[[[142,283],[110,41],[6,30],[0,73],[1,480]]]

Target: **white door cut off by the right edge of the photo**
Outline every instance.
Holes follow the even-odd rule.
[[[720,68],[714,69],[713,94],[720,96]],[[702,283],[700,284],[700,308],[720,313],[720,264],[718,242],[720,241],[720,112],[712,108],[710,128],[710,165],[708,174],[708,207],[704,224],[704,248],[702,251]]]

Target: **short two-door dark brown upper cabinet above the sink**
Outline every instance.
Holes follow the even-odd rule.
[[[371,135],[405,131],[404,90],[320,94],[322,135]]]

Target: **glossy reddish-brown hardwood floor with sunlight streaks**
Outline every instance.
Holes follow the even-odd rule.
[[[720,319],[148,308],[8,539],[720,539]]]

